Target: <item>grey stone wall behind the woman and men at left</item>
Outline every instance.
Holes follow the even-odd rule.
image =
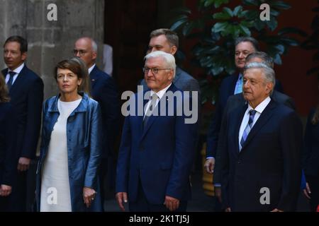
[[[47,20],[49,4],[57,6],[57,21]],[[57,93],[52,77],[55,64],[72,57],[73,44],[78,37],[93,37],[102,56],[103,13],[103,0],[0,0],[1,52],[7,37],[26,37],[29,47],[26,62],[43,78],[45,98],[50,97]],[[99,57],[98,64],[101,62]],[[0,68],[4,67],[4,61],[0,60]]]

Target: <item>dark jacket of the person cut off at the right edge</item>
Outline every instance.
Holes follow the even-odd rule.
[[[311,109],[303,142],[303,169],[306,175],[319,175],[319,124],[312,124],[315,109]]]

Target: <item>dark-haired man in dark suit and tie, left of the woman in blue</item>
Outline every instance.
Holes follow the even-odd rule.
[[[9,196],[10,211],[26,211],[27,171],[35,157],[41,125],[43,81],[24,63],[27,52],[28,42],[23,37],[11,36],[4,43],[4,61],[8,68],[2,74],[17,120],[17,172]]]

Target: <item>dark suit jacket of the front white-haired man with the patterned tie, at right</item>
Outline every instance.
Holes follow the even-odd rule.
[[[293,211],[301,182],[301,121],[292,109],[272,100],[239,152],[246,109],[237,107],[225,115],[227,141],[220,160],[224,205],[233,211]],[[260,203],[262,188],[269,189],[269,204]]]

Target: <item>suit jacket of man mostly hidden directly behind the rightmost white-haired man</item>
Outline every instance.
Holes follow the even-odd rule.
[[[286,107],[289,107],[293,110],[296,110],[295,103],[291,99],[291,97],[285,95],[284,93],[280,93],[276,90],[272,93],[272,100],[274,100],[276,103],[280,105],[286,105]],[[225,143],[225,139],[227,139],[225,130],[227,125],[227,117],[226,115],[230,114],[233,109],[237,107],[242,107],[246,105],[246,101],[242,95],[242,93],[238,93],[236,95],[232,95],[228,98],[227,104],[225,106],[223,119],[221,121],[220,131],[219,131],[219,139],[218,139],[218,146],[216,149],[216,155],[215,155],[215,169],[214,169],[214,177],[213,182],[214,184],[220,184],[221,175],[220,175],[220,152],[223,149],[222,145]]]

